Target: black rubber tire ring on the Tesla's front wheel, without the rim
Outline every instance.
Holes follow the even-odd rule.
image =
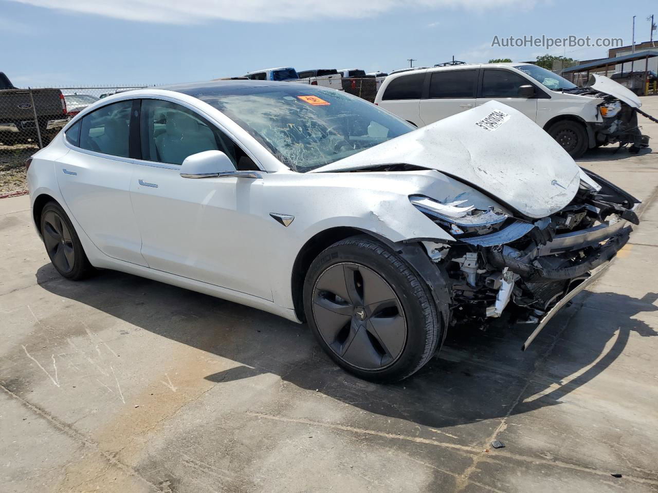
[[[378,243],[367,239],[368,243]],[[395,260],[403,262],[401,258],[391,252],[384,245],[378,244],[383,248],[386,253],[393,256]],[[399,298],[402,305],[405,322],[407,326],[407,335],[405,338],[405,345],[403,346],[401,354],[397,360],[392,364],[378,370],[365,370],[354,365],[349,364],[342,360],[330,346],[325,342],[318,331],[315,323],[315,315],[313,314],[313,290],[315,283],[320,275],[331,266],[336,264],[351,263],[361,264],[380,275],[392,287],[393,292]],[[405,264],[409,270],[411,268]],[[411,272],[415,275],[413,270]],[[424,284],[417,275],[411,282]],[[428,292],[426,286],[422,286],[426,302],[433,304],[434,300]],[[426,359],[426,352],[430,350],[434,352],[434,347],[428,348],[427,327],[432,325],[432,328],[440,332],[440,320],[436,315],[436,310],[427,310],[422,305],[422,300],[419,299],[411,287],[411,283],[406,275],[399,271],[388,258],[378,254],[370,249],[359,247],[355,244],[345,244],[339,242],[326,248],[318,257],[313,261],[309,271],[307,272],[304,283],[304,310],[307,314],[307,323],[311,327],[311,331],[315,335],[322,349],[338,364],[339,366],[347,369],[351,373],[355,373],[359,377],[367,380],[374,380],[380,382],[392,382],[401,380],[418,369],[421,362]],[[420,296],[422,298],[422,296]],[[433,306],[433,305],[432,305]],[[437,333],[435,339],[441,340],[442,334]],[[424,363],[423,363],[424,364]]]

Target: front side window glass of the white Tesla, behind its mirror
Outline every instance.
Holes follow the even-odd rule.
[[[176,103],[143,99],[139,128],[144,160],[183,164],[192,154],[222,151],[236,169],[258,170],[251,158],[225,133]]]

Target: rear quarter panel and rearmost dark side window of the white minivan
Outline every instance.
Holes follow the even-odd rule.
[[[418,70],[390,80],[384,87],[384,94],[379,105],[403,120],[422,127],[424,122],[420,119],[420,97],[425,74],[425,70]]]

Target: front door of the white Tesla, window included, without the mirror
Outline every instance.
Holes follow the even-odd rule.
[[[226,153],[240,170],[257,170],[226,134],[189,108],[143,99],[141,156],[132,205],[149,267],[272,300],[263,275],[266,231],[263,179],[180,176],[187,156]],[[271,221],[271,218],[269,218]]]

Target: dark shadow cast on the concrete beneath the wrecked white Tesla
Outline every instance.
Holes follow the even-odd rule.
[[[633,318],[658,310],[653,304],[658,294],[638,299],[586,292],[551,320],[526,352],[520,346],[531,325],[499,322],[486,331],[463,327],[449,332],[442,351],[416,375],[394,385],[377,385],[336,367],[306,325],[260,310],[114,271],[72,283],[47,264],[36,277],[43,289],[58,296],[236,362],[226,371],[206,375],[209,381],[274,373],[363,411],[432,428],[558,405],[617,360],[631,333],[658,335]],[[511,408],[528,379],[533,389],[544,389],[534,391],[540,397]]]

